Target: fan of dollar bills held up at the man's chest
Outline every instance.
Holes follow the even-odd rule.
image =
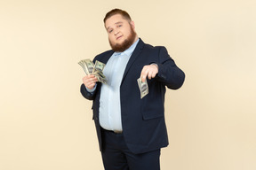
[[[103,69],[105,67],[104,63],[96,60],[94,65],[91,59],[83,59],[79,61],[78,64],[82,66],[86,75],[93,74],[97,77],[98,81],[107,84],[107,78],[103,74]]]

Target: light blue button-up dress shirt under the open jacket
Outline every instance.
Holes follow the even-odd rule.
[[[108,59],[103,73],[108,83],[101,86],[100,91],[100,126],[107,130],[122,131],[120,85],[124,69],[132,56],[139,39],[124,52],[115,52]]]

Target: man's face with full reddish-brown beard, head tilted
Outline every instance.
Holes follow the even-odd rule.
[[[122,15],[116,14],[105,22],[108,32],[108,41],[115,51],[127,50],[136,41],[134,23],[124,19]]]

